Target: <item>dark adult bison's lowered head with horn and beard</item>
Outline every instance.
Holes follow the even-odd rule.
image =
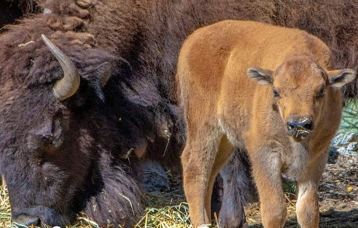
[[[1,69],[0,78],[0,171],[12,221],[65,226],[87,204],[89,215],[102,225],[127,222],[128,214],[133,217],[138,211],[137,187],[95,140],[98,126],[93,122],[99,111],[92,104],[101,99],[88,99],[90,87],[97,91],[106,84],[111,67],[86,66],[96,60],[88,53],[88,63],[76,61],[79,70],[44,35],[25,45]],[[67,51],[76,59],[74,53],[83,50],[74,46]]]

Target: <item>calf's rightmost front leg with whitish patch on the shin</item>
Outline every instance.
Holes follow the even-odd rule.
[[[319,206],[317,191],[328,153],[324,153],[311,162],[305,177],[297,180],[297,220],[302,228],[318,228]]]

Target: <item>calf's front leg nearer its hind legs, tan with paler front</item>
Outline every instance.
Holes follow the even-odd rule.
[[[265,146],[251,150],[253,153],[250,157],[260,198],[263,227],[282,228],[287,208],[282,190],[280,153],[272,148]]]

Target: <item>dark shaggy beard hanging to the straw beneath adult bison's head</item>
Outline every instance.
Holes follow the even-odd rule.
[[[140,190],[136,181],[121,167],[111,167],[109,154],[102,154],[98,164],[95,182],[101,189],[87,201],[89,218],[100,227],[112,224],[132,227],[142,213]]]

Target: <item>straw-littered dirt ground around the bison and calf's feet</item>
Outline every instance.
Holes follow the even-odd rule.
[[[170,177],[170,172],[168,172]],[[148,194],[146,211],[135,228],[191,228],[188,205],[180,180],[171,182],[170,192]],[[285,228],[299,228],[295,217],[295,195],[285,193],[288,216]],[[331,156],[319,187],[320,228],[358,228],[358,152]],[[183,203],[184,202],[184,203]],[[250,228],[260,228],[258,203],[245,207]],[[0,228],[17,228],[10,223],[10,208],[5,189],[0,191]],[[113,226],[109,226],[113,227]],[[69,228],[99,228],[85,215]],[[215,226],[215,228],[218,228]]]

